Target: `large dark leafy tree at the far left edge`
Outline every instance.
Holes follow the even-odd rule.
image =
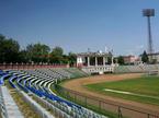
[[[0,35],[0,62],[18,62],[20,45],[12,38]]]

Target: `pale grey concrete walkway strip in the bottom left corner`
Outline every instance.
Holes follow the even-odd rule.
[[[7,86],[1,86],[4,106],[9,118],[24,118],[18,105],[13,101]]]

